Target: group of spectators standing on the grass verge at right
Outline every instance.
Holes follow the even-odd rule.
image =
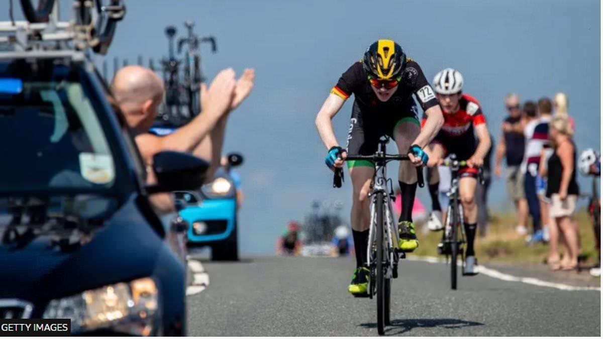
[[[506,160],[508,194],[517,212],[516,232],[525,235],[529,245],[548,243],[546,262],[552,271],[575,270],[581,253],[575,219],[578,158],[568,103],[564,93],[555,94],[552,100],[540,98],[522,105],[519,95],[507,95],[509,115],[501,125],[494,168],[500,177],[502,160]],[[531,232],[527,228],[529,217]],[[600,270],[593,272],[600,274]]]

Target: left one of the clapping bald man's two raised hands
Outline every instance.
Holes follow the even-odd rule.
[[[235,97],[235,71],[232,68],[223,69],[216,75],[209,89],[201,84],[201,104],[208,115],[223,116],[230,110]]]

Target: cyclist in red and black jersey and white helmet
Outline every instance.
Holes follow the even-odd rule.
[[[477,228],[478,208],[475,201],[475,188],[478,184],[478,168],[484,163],[491,141],[479,102],[461,92],[462,89],[463,75],[458,71],[447,68],[435,75],[434,90],[444,113],[444,125],[431,144],[428,166],[437,166],[448,154],[456,154],[456,159],[467,161],[467,167],[459,170],[459,195],[463,205],[467,235],[465,272],[476,274],[477,260],[473,242]],[[435,173],[437,171],[431,171],[431,174]],[[439,180],[431,178],[429,183],[432,185],[437,181]]]

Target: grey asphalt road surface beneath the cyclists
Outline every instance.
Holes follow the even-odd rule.
[[[377,335],[376,300],[347,293],[351,258],[251,258],[203,265],[188,297],[188,335]],[[387,335],[601,335],[601,292],[563,291],[479,274],[451,291],[444,264],[406,260]]]

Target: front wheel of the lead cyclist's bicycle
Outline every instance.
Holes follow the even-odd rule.
[[[385,272],[384,272],[384,225],[383,225],[383,193],[377,192],[375,197],[376,231],[377,231],[377,331],[385,334]],[[389,307],[389,305],[388,305]]]

